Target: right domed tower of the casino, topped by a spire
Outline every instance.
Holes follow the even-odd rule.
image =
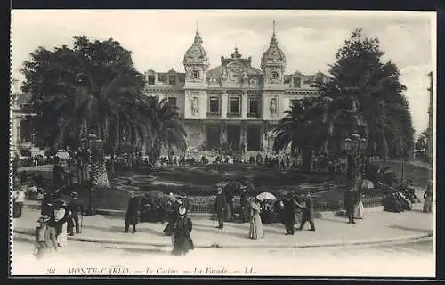
[[[263,69],[265,89],[280,88],[284,84],[286,56],[278,46],[277,37],[275,36],[275,21],[273,22],[271,44],[267,51],[263,53],[263,58],[261,59],[261,69]]]

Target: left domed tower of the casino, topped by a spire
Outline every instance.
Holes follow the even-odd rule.
[[[209,63],[202,43],[201,36],[199,36],[197,30],[193,44],[184,55],[185,88],[205,87]]]

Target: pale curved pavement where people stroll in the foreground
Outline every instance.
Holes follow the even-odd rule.
[[[382,240],[401,240],[425,237],[433,232],[433,215],[421,213],[422,204],[402,213],[384,212],[382,208],[369,208],[364,220],[347,224],[344,217],[325,213],[316,219],[316,232],[295,232],[285,235],[282,224],[264,225],[265,237],[248,239],[249,224],[224,223],[223,230],[216,229],[214,221],[205,217],[192,218],[191,237],[198,248],[245,248],[245,247],[318,247],[353,243],[369,243]],[[32,234],[39,216],[36,209],[25,208],[23,216],[13,220],[14,232]],[[138,232],[123,233],[124,218],[117,216],[85,216],[84,231],[69,240],[93,241],[128,245],[169,247],[171,239],[164,235],[166,224],[141,223]],[[306,225],[308,228],[309,225]]]

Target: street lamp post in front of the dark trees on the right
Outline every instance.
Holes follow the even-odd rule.
[[[344,141],[344,151],[348,155],[349,178],[356,182],[364,171],[364,154],[368,148],[368,142],[360,134],[352,134]]]

